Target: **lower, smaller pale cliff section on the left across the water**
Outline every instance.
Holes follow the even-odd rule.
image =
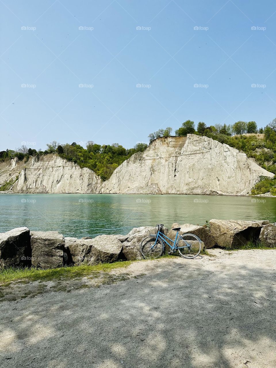
[[[17,176],[10,189],[14,193],[100,193],[102,187],[102,180],[92,170],[56,153],[30,157],[27,163],[13,159],[8,165],[0,164],[1,185]]]

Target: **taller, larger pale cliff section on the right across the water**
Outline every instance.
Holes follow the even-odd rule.
[[[226,144],[208,137],[159,138],[123,162],[102,193],[250,194],[259,176],[273,177]]]

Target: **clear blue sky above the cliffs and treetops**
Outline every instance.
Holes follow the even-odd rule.
[[[0,5],[0,150],[53,139],[128,148],[187,119],[276,117],[275,0]]]

